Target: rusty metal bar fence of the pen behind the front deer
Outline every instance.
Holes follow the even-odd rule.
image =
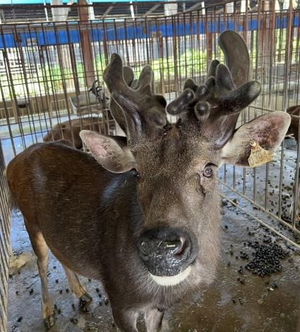
[[[191,10],[172,16],[0,25],[2,307],[9,229],[7,191],[2,180],[4,163],[32,143],[42,141],[54,126],[60,138],[64,138],[64,129],[73,128],[73,145],[76,128],[95,130],[96,123],[97,130],[104,133],[114,129],[105,98],[99,100],[89,91],[96,79],[104,86],[102,73],[113,52],[121,54],[136,76],[144,64],[151,64],[156,92],[172,100],[181,92],[186,78],[203,82],[210,61],[223,60],[217,47],[218,35],[227,29],[236,30],[248,44],[251,78],[263,85],[262,94],[244,110],[240,123],[300,104],[300,11],[292,6],[277,11],[275,1],[258,1],[256,11],[250,11],[248,1],[242,2],[232,3],[230,12],[226,4],[200,10],[192,10],[195,7],[190,4]],[[54,131],[48,137],[54,139]],[[234,193],[278,220],[278,225],[299,232],[296,189],[300,154],[296,143],[291,142],[282,146],[273,162],[255,170],[224,165],[220,186],[227,196]],[[295,208],[290,212],[293,203]],[[278,232],[283,235],[280,228]],[[294,241],[289,232],[284,236]],[[5,319],[5,309],[3,312]]]

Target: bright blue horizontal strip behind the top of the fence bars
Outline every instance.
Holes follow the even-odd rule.
[[[51,25],[51,23],[49,23]],[[299,17],[294,17],[292,25],[294,27],[299,26]],[[276,20],[276,28],[286,28],[287,27],[287,18],[277,18]],[[34,40],[37,45],[64,45],[68,43],[78,43],[79,42],[79,32],[77,30],[78,26],[76,26],[76,30],[72,30],[72,24],[68,25],[68,30],[64,30],[64,28],[59,28],[58,31],[47,30],[47,27],[44,27],[44,31],[41,31],[38,25],[35,27],[37,32],[20,32],[19,37],[21,40],[22,46],[28,45],[30,40]],[[248,21],[248,30],[257,30],[258,28],[258,20],[249,20]],[[184,36],[193,34],[195,35],[197,32],[200,34],[205,33],[205,23],[167,23],[163,25],[159,25],[158,29],[163,37],[172,37],[176,36]],[[33,30],[33,28],[32,28]],[[234,23],[229,22],[224,25],[224,22],[220,21],[218,23],[209,23],[208,24],[209,32],[222,32],[224,30],[234,30]],[[239,25],[239,31],[243,30],[243,26]],[[133,38],[141,39],[145,37],[149,37],[151,34],[155,34],[157,32],[157,25],[153,24],[148,26],[148,31],[146,31],[141,26],[128,26],[126,28],[119,27],[114,30],[108,29],[106,38],[107,40],[131,40]],[[91,41],[102,41],[103,40],[103,28],[102,25],[99,24],[97,27],[92,28],[90,32]],[[16,42],[14,40],[12,33],[2,33],[0,35],[0,48],[4,47],[16,47]]]

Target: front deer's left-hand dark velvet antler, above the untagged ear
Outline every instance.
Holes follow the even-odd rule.
[[[128,141],[135,143],[143,134],[155,135],[167,124],[166,100],[152,93],[152,69],[145,66],[140,73],[136,88],[130,88],[124,81],[121,57],[112,54],[111,61],[103,73],[104,81],[112,100],[121,107],[126,119]],[[116,120],[118,121],[118,120]]]

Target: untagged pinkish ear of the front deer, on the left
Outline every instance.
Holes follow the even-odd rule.
[[[136,158],[126,145],[126,138],[90,130],[82,130],[79,135],[95,160],[109,172],[124,173],[136,168]]]

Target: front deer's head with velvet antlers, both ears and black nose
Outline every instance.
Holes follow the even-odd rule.
[[[217,169],[223,161],[248,166],[251,141],[272,152],[289,126],[288,114],[272,112],[235,130],[237,117],[258,96],[260,84],[247,82],[244,41],[235,32],[224,34],[220,40],[232,73],[240,73],[235,63],[246,66],[242,80],[212,61],[205,83],[197,86],[189,80],[184,93],[168,105],[168,112],[180,117],[169,124],[166,102],[152,93],[150,80],[128,87],[121,59],[113,54],[104,80],[124,112],[128,146],[111,136],[80,133],[103,167],[128,172],[138,205],[132,216],[136,250],[155,285],[184,287],[212,280],[220,238]]]

